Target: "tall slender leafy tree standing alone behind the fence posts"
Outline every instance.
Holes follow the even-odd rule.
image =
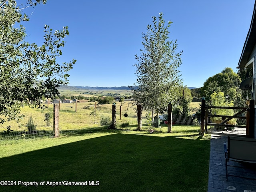
[[[147,32],[142,33],[143,49],[140,56],[135,55],[137,64],[136,84],[131,88],[133,98],[144,109],[160,112],[166,110],[168,103],[178,96],[178,88],[182,84],[179,66],[182,63],[182,52],[176,52],[177,42],[169,40],[168,28],[172,22],[165,25],[163,14],[158,19],[153,16],[153,24],[147,26]]]

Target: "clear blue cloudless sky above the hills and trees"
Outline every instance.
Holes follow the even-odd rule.
[[[17,0],[17,4],[19,4]],[[236,67],[248,33],[254,0],[48,0],[25,12],[27,40],[42,44],[44,24],[68,26],[59,62],[77,62],[69,86],[128,86],[136,83],[134,55],[152,16],[172,21],[170,40],[183,50],[183,84],[201,87],[226,67]]]

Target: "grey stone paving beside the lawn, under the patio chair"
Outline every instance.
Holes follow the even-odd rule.
[[[223,143],[227,136],[211,135],[208,192],[256,192],[256,165],[229,161],[226,180],[225,153]],[[251,178],[251,179],[246,179]],[[252,180],[255,179],[255,180]]]

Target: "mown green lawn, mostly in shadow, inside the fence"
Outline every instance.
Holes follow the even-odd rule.
[[[199,136],[199,129],[173,126],[173,133],[153,134],[94,129],[61,138],[3,140],[0,180],[16,185],[0,191],[206,192],[210,137]],[[46,185],[62,181],[87,185]]]

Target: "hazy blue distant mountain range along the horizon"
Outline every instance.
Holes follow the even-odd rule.
[[[188,87],[189,89],[195,89],[196,87]],[[58,90],[130,90],[128,86],[121,87],[88,87],[88,86],[68,86],[60,85]]]

